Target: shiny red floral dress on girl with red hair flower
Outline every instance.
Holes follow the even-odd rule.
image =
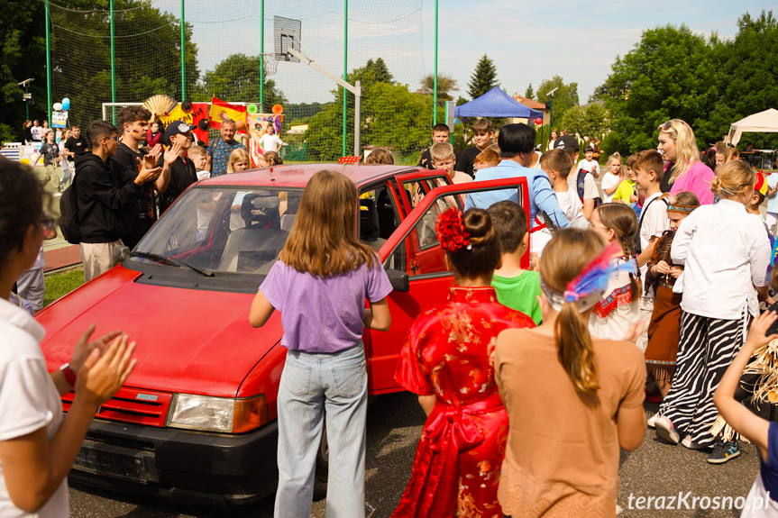
[[[447,304],[416,318],[395,378],[407,390],[437,399],[392,516],[502,518],[497,489],[508,413],[490,356],[499,332],[514,327],[535,323],[499,304],[490,286],[453,286]]]

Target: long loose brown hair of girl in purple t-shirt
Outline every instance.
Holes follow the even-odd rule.
[[[375,250],[357,241],[357,189],[342,173],[319,171],[306,186],[295,223],[279,259],[300,272],[329,277],[378,262]]]

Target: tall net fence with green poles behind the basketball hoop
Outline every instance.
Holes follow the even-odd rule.
[[[113,90],[107,2],[56,0],[50,3],[53,102],[69,97],[70,122],[81,125],[102,118],[112,94],[117,103],[156,94],[179,102],[215,96],[258,105],[263,113],[279,104],[286,160],[350,155],[354,96],[345,95],[343,153],[343,89],[304,63],[261,59],[274,52],[274,16],[282,16],[300,22],[300,48],[308,58],[338,77],[345,66],[349,82],[362,81],[362,146],[389,148],[396,161],[415,163],[433,125],[433,96],[418,90],[428,72],[424,46],[432,44],[422,0],[347,4],[346,16],[343,0],[187,0],[182,94],[180,0],[114,1]],[[108,109],[109,120],[111,114]]]

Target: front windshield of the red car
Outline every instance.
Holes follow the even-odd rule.
[[[302,189],[193,187],[130,254],[130,261],[200,275],[266,275],[287,241]]]

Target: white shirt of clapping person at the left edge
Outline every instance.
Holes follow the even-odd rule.
[[[0,299],[0,441],[46,428],[49,441],[62,423],[62,402],[38,345],[45,331],[23,309]],[[0,516],[68,516],[68,483],[63,479],[38,513],[24,513],[11,502],[0,465]]]

